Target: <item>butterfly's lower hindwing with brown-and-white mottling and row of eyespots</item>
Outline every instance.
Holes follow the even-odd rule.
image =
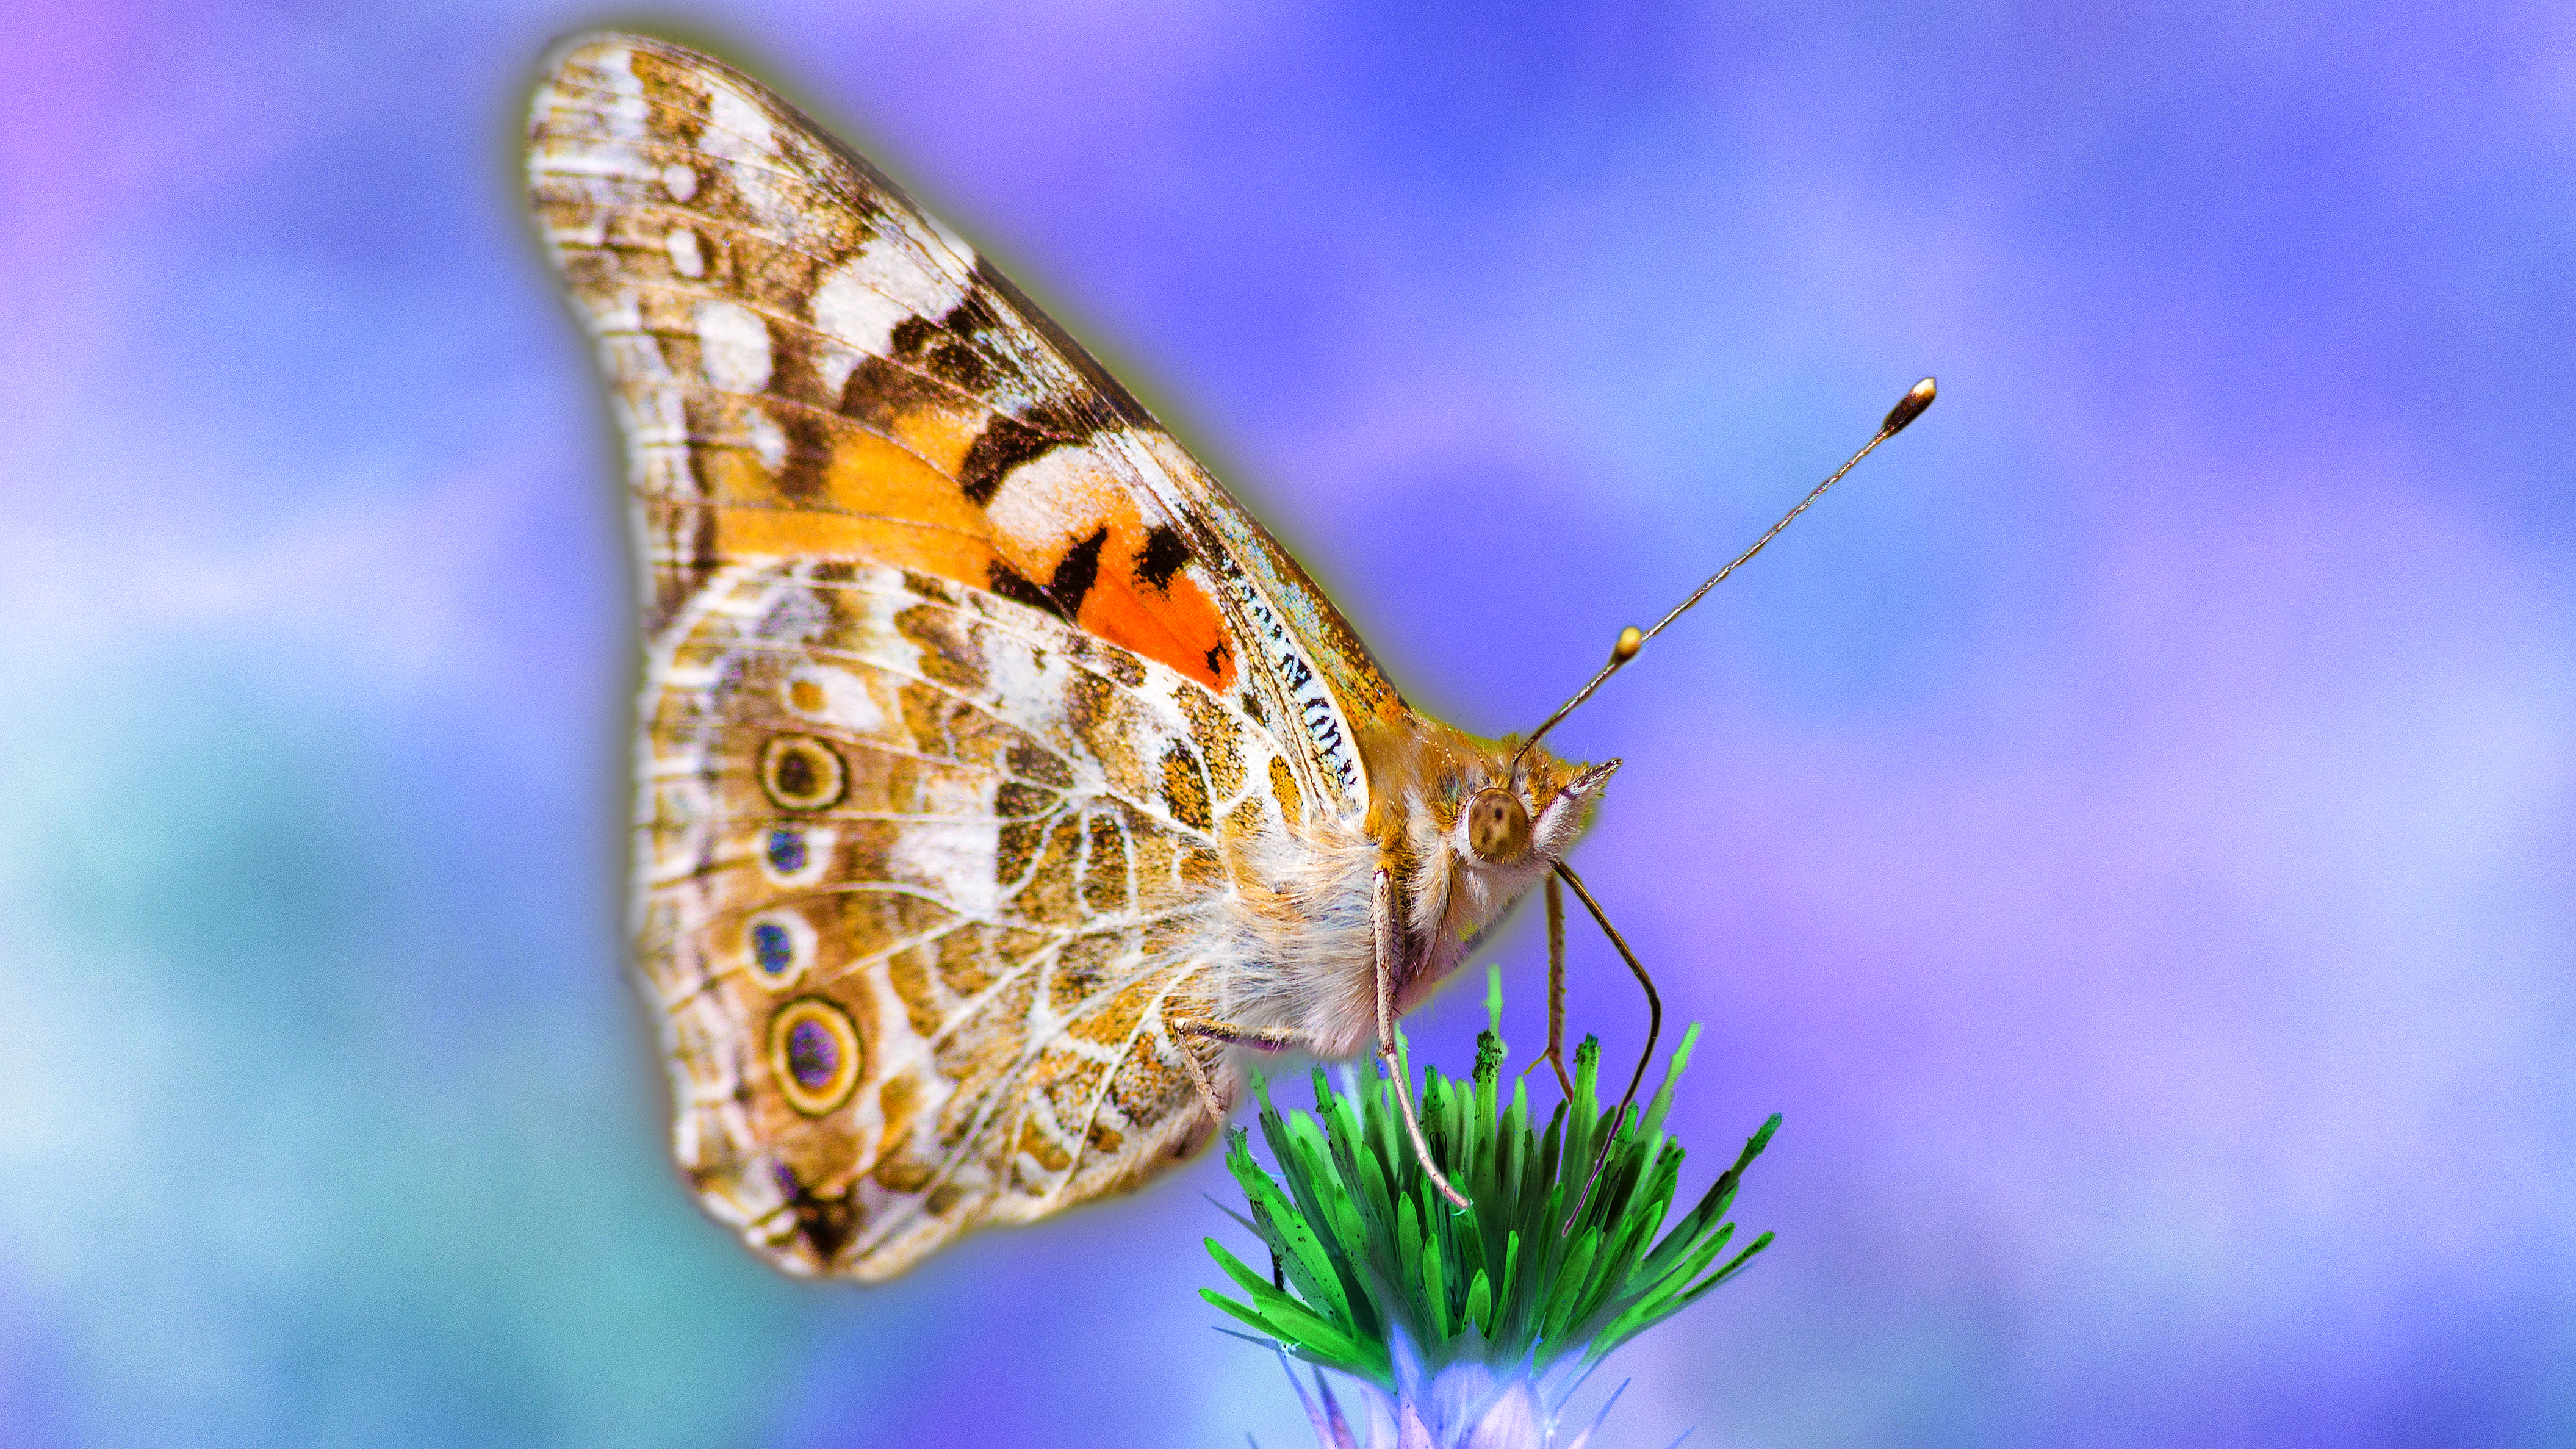
[[[644,705],[677,1158],[755,1248],[881,1279],[1211,1130],[1167,1019],[1301,806],[1203,685],[948,579],[744,564]]]

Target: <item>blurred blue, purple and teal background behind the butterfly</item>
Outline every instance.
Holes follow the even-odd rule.
[[[0,1441],[1306,1441],[1213,1158],[884,1289],[665,1168],[515,172],[603,21],[881,160],[1479,734],[1940,376],[1556,736],[1687,1184],[1788,1117],[1613,1444],[2576,1439],[2576,13],[1476,10],[15,10]]]

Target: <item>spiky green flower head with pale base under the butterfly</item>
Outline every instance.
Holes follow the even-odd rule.
[[[1476,1040],[1471,1081],[1425,1068],[1419,1096],[1430,1153],[1468,1207],[1450,1207],[1422,1171],[1383,1076],[1345,1076],[1334,1089],[1316,1071],[1314,1114],[1283,1117],[1255,1073],[1280,1176],[1252,1158],[1247,1132],[1229,1132],[1226,1168],[1249,1207],[1229,1215],[1270,1248],[1273,1266],[1262,1277],[1208,1238],[1249,1302],[1216,1289],[1200,1297],[1280,1354],[1360,1380],[1358,1418],[1321,1372],[1321,1403],[1298,1382],[1324,1449],[1574,1449],[1592,1428],[1558,1446],[1566,1395],[1613,1349],[1736,1277],[1772,1241],[1762,1233],[1718,1266],[1734,1235],[1726,1210],[1777,1114],[1654,1238],[1682,1174],[1682,1148],[1662,1122],[1698,1027],[1682,1035],[1654,1099],[1618,1122],[1600,1109],[1600,1042],[1584,1037],[1574,1102],[1558,1104],[1540,1135],[1522,1084],[1502,1107],[1499,973],[1486,1009],[1492,1027]],[[1401,1053],[1399,1071],[1412,1071]]]

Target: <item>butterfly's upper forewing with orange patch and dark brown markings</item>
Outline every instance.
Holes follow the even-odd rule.
[[[1368,803],[1401,713],[1306,574],[1144,407],[868,162],[724,64],[569,44],[531,121],[538,226],[600,340],[659,636],[726,566],[866,558],[1121,643]]]

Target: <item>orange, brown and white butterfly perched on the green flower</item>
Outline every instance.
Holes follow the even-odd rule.
[[[1556,880],[1600,916],[1564,854],[1618,762],[1412,710],[873,165],[600,33],[546,67],[528,185],[626,440],[672,1153],[770,1264],[876,1282],[1139,1186],[1216,1135],[1244,1048],[1391,1060],[1540,880],[1561,986]]]

